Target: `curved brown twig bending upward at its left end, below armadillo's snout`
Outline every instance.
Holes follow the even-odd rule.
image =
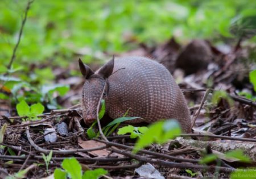
[[[26,128],[26,134],[27,134],[27,139],[30,142],[30,144],[36,149],[36,151],[43,152],[43,153],[49,153],[51,150],[44,149],[42,147],[39,147],[38,145],[35,144],[35,142],[31,139],[30,136],[30,131],[29,127]],[[68,154],[74,154],[77,152],[89,152],[89,151],[97,151],[100,149],[105,149],[108,148],[107,146],[101,146],[101,147],[94,147],[94,148],[89,148],[89,149],[75,149],[75,150],[65,150],[65,151],[56,151],[52,150],[52,153],[54,154],[62,154],[62,155],[68,155]]]

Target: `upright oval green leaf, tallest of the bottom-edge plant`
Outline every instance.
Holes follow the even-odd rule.
[[[64,159],[61,164],[62,168],[66,170],[68,174],[70,174],[72,179],[81,179],[82,178],[82,167],[79,162],[74,158]]]

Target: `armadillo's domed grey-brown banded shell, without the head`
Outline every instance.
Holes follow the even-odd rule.
[[[122,69],[125,68],[125,69]],[[184,96],[170,72],[146,57],[124,57],[115,60],[117,71],[108,79],[106,109],[111,118],[139,116],[130,123],[152,123],[160,119],[177,119],[189,132],[191,119]]]

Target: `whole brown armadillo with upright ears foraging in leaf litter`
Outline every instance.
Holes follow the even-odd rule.
[[[82,116],[86,124],[96,120],[98,101],[103,98],[106,113],[112,119],[123,116],[140,118],[129,123],[152,123],[162,119],[177,119],[183,132],[191,129],[189,110],[183,93],[171,73],[158,62],[146,57],[113,59],[93,72],[79,59],[85,83],[82,88]]]

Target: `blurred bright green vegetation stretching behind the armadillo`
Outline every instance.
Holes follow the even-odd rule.
[[[27,1],[1,0],[0,7],[0,73],[5,74],[0,97],[8,98],[9,91],[14,101],[46,102],[49,109],[57,106],[52,101],[55,90],[64,95],[79,81],[78,57],[95,69],[113,54],[129,55],[141,48],[147,53],[138,54],[158,58],[162,51],[156,49],[168,42],[180,49],[192,39],[205,39],[221,53],[229,53],[238,41],[256,43],[255,0],[35,0],[7,69]],[[51,95],[47,100],[46,94]]]

